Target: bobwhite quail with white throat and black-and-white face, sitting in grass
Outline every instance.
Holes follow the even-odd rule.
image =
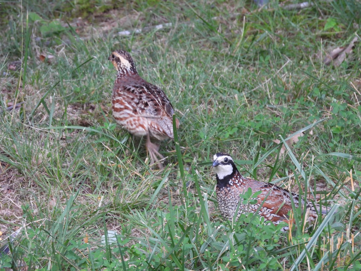
[[[217,201],[219,210],[224,218],[232,220],[236,209],[239,206],[236,220],[242,213],[255,213],[262,204],[258,214],[263,216],[265,220],[271,221],[273,224],[279,224],[281,221],[289,222],[288,211],[292,210],[290,195],[296,208],[303,211],[305,201],[296,193],[290,193],[277,185],[268,182],[260,182],[250,178],[243,177],[232,157],[229,154],[219,152],[213,157],[213,168],[217,173]],[[243,205],[240,202],[240,194],[247,192],[248,188],[252,189],[252,193],[261,191],[256,199],[257,203],[252,205]],[[266,198],[266,199],[265,199]],[[306,209],[308,210],[307,221],[313,221],[320,212],[320,206],[306,201]],[[327,214],[330,208],[322,206],[321,214]],[[288,226],[283,227],[283,231],[288,230]]]

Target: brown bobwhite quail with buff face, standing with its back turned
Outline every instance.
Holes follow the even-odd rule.
[[[122,128],[135,136],[147,136],[146,148],[151,163],[164,157],[158,152],[159,145],[151,142],[174,138],[174,109],[165,93],[157,86],[142,79],[130,54],[114,51],[109,60],[117,69],[113,88],[113,117]],[[179,121],[176,119],[178,128]],[[161,164],[158,164],[161,168]]]

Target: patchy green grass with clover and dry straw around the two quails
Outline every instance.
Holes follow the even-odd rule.
[[[67,3],[1,13],[0,106],[25,101],[0,113],[0,231],[23,227],[1,270],[360,268],[360,46],[339,67],[316,57],[360,36],[360,3]],[[117,34],[134,29],[144,31]],[[112,118],[107,58],[119,48],[181,122],[176,144],[162,142],[164,171]],[[17,60],[22,69],[8,70]],[[256,216],[224,221],[217,151],[247,176],[340,206],[311,225],[294,210],[286,233]]]

